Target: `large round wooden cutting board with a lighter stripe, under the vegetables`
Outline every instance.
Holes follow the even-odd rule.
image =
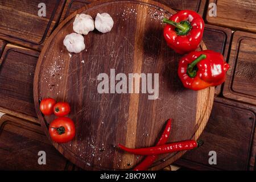
[[[73,32],[76,14],[109,13],[112,31],[97,30],[85,38],[85,50],[68,53],[65,35]],[[175,11],[153,1],[98,1],[68,16],[52,33],[39,57],[34,79],[34,101],[39,121],[49,137],[47,123],[56,117],[43,116],[39,98],[52,97],[71,105],[68,115],[76,125],[72,142],[53,145],[72,163],[83,169],[131,169],[144,156],[119,150],[118,143],[138,148],[154,146],[168,118],[173,118],[169,142],[197,139],[213,105],[214,88],[195,92],[183,87],[177,76],[177,55],[163,38],[163,17]],[[205,49],[201,43],[199,49]],[[152,93],[98,93],[100,73],[159,74],[159,96]],[[156,78],[157,81],[157,78]],[[117,84],[118,81],[115,81]],[[147,84],[148,86],[148,84]],[[155,93],[156,93],[155,89]],[[141,90],[140,90],[141,91]],[[184,152],[160,155],[151,169],[160,169]]]

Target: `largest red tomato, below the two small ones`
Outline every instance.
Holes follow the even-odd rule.
[[[68,117],[57,118],[49,125],[49,134],[57,143],[69,142],[76,134],[74,122]]]

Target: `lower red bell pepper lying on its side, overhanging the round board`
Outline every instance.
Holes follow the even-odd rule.
[[[222,84],[226,79],[229,64],[214,51],[194,51],[181,57],[178,75],[185,88],[201,90]]]

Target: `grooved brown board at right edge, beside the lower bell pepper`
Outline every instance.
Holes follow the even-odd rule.
[[[256,35],[234,33],[223,95],[256,105]]]

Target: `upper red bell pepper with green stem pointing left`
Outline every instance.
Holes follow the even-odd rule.
[[[195,51],[199,46],[204,32],[204,20],[191,10],[181,10],[169,19],[164,18],[164,38],[169,47],[183,54]]]

